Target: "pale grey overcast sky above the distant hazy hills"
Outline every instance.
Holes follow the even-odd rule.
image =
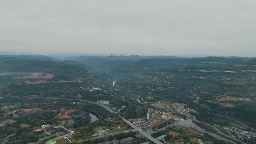
[[[256,56],[256,0],[0,0],[0,51]]]

